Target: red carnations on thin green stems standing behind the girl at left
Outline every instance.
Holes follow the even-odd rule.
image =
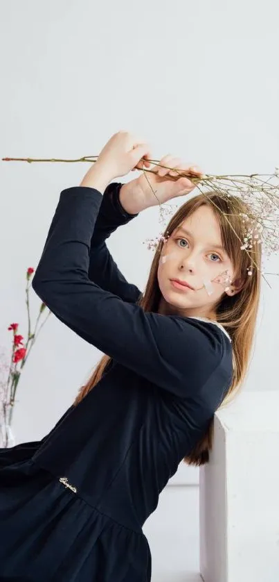
[[[10,365],[1,365],[1,376],[3,376],[3,372],[8,372],[8,377],[5,379],[5,381],[3,381],[1,378],[0,382],[0,446],[3,448],[8,447],[10,442],[14,442],[14,437],[11,430],[12,413],[15,407],[15,394],[17,392],[22,369],[26,364],[27,358],[31,349],[33,348],[33,345],[35,344],[35,340],[37,339],[39,332],[41,331],[44,324],[46,324],[48,317],[51,315],[51,311],[48,310],[44,322],[39,326],[42,313],[44,313],[46,308],[46,304],[42,302],[39,308],[37,320],[35,322],[35,329],[33,333],[31,332],[29,290],[30,277],[34,271],[35,269],[33,269],[33,267],[28,267],[26,271],[26,306],[28,316],[27,340],[24,342],[23,335],[17,333],[19,328],[18,323],[10,324],[10,326],[8,326],[8,331],[12,331],[13,333]]]

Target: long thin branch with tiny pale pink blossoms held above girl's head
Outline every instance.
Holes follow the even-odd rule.
[[[75,159],[59,159],[59,158],[2,158],[3,161],[26,161],[28,163],[33,162],[89,162],[94,163],[98,160],[98,156],[83,156],[82,158]],[[279,167],[275,168],[273,174],[231,174],[231,175],[213,175],[213,174],[202,174],[200,177],[193,176],[189,172],[183,172],[182,170],[173,169],[168,166],[162,165],[159,160],[148,160],[153,165],[165,167],[171,169],[172,172],[177,172],[176,176],[168,176],[170,180],[177,180],[181,176],[188,177],[195,183],[201,194],[207,197],[206,191],[208,188],[218,192],[219,196],[230,201],[231,197],[240,197],[245,203],[249,212],[246,214],[242,213],[242,222],[244,224],[244,235],[243,240],[235,232],[235,236],[240,241],[240,248],[245,251],[249,258],[251,258],[251,265],[248,269],[248,274],[251,275],[253,272],[253,265],[257,267],[255,261],[253,260],[253,253],[255,252],[255,246],[258,244],[262,245],[262,251],[265,256],[269,257],[271,254],[277,254],[279,251]],[[141,171],[141,169],[139,169]],[[153,172],[153,169],[145,169],[142,171],[147,178],[148,172]],[[147,178],[147,181],[152,189],[152,185]],[[154,196],[156,197],[156,192],[152,189]],[[170,215],[172,215],[178,208],[174,204],[161,204],[158,197],[156,197],[159,203],[159,223],[163,224],[167,222]],[[210,203],[213,201],[210,199]],[[223,213],[224,217],[228,221],[228,224],[233,228],[229,219],[226,217],[226,213]],[[158,237],[153,239],[147,239],[147,248],[155,250],[158,243],[163,237],[163,232],[159,233]],[[264,273],[261,271],[262,275]],[[266,274],[276,274],[279,273],[266,273]],[[264,277],[265,278],[265,277]],[[266,280],[266,279],[265,279]],[[266,280],[267,281],[267,280]],[[268,281],[267,281],[268,283]],[[269,285],[269,283],[268,283]],[[269,285],[270,286],[270,285]]]

